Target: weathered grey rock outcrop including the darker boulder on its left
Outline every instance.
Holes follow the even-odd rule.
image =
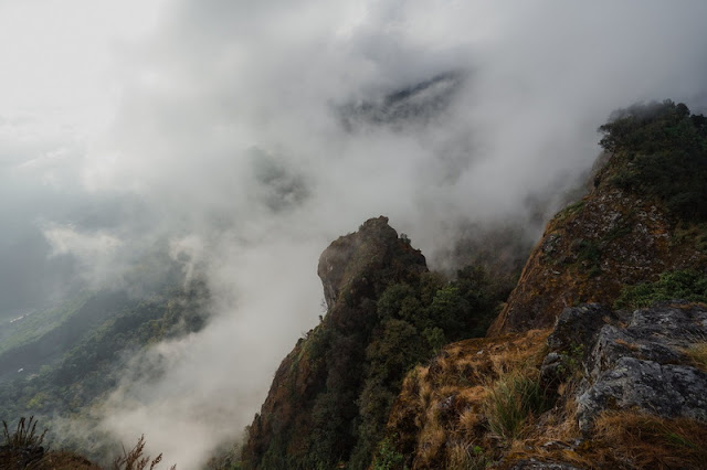
[[[566,309],[548,338],[541,367],[548,384],[581,367],[580,428],[604,410],[631,409],[707,423],[707,373],[687,351],[707,339],[707,307],[663,302],[631,313],[599,306]]]

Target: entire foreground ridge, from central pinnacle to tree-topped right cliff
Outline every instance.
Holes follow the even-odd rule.
[[[384,217],[334,242],[327,316],[281,364],[243,468],[707,464],[707,121],[664,102],[600,131],[593,188],[510,293],[481,266],[430,273]]]

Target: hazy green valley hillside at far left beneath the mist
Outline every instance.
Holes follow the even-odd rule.
[[[208,299],[203,284],[192,282],[187,289],[167,288],[141,300],[124,292],[99,292],[62,306],[57,311],[64,320],[54,322],[53,330],[15,341],[18,346],[0,355],[0,368],[13,374],[0,382],[0,419],[34,415],[52,429],[53,417],[85,414],[117,385],[129,352],[200,330]],[[31,337],[29,330],[27,334]],[[21,364],[27,366],[18,373]],[[65,436],[50,437],[61,446],[85,446],[66,441]]]

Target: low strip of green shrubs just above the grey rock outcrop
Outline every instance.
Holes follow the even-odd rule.
[[[707,302],[707,275],[694,269],[663,273],[655,282],[625,287],[614,308],[635,309],[675,299]]]

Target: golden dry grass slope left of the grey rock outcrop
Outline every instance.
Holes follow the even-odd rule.
[[[537,377],[548,334],[536,330],[461,341],[446,346],[429,367],[410,373],[389,428],[402,440],[416,442],[409,449],[413,468],[484,468],[474,466],[488,461],[497,444],[488,436],[484,400],[509,371]],[[472,455],[469,449],[483,451]]]

